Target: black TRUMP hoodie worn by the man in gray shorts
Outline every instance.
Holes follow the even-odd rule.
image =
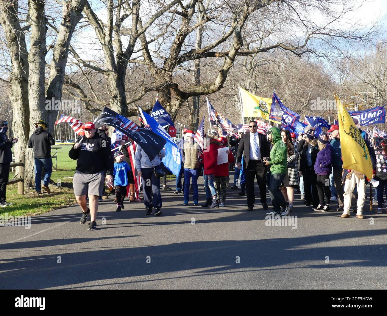
[[[77,139],[77,142],[80,138]],[[75,144],[74,144],[75,145]],[[68,152],[71,159],[77,159],[77,169],[84,173],[98,173],[106,170],[106,175],[113,175],[113,156],[110,143],[97,133],[92,138],[83,138],[78,149],[73,147]]]

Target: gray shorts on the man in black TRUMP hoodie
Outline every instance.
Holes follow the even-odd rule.
[[[75,196],[98,195],[102,196],[105,181],[105,172],[83,173],[78,170],[74,173],[73,187]]]

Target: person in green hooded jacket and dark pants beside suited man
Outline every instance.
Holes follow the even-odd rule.
[[[288,153],[286,145],[281,140],[281,131],[279,128],[272,127],[268,133],[269,141],[273,143],[273,148],[270,151],[270,160],[265,161],[265,164],[270,166],[271,175],[269,193],[273,211],[266,214],[275,216],[281,214],[281,207],[284,211],[286,208],[285,198],[281,192],[280,186],[284,181],[287,171],[286,160],[288,159]]]

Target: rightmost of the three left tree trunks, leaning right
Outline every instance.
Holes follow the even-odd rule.
[[[62,87],[65,77],[65,68],[68,57],[68,45],[70,44],[75,26],[82,19],[82,10],[86,0],[72,0],[64,2],[63,17],[60,24],[57,42],[53,51],[51,62],[50,78],[48,79],[48,88],[46,93],[47,100],[62,99]],[[52,103],[52,102],[51,102]],[[48,131],[53,131],[55,121],[57,120],[58,110],[51,108],[48,111]]]

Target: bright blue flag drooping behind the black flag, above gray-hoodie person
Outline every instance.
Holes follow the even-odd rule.
[[[161,159],[164,163],[164,166],[170,170],[174,175],[178,175],[180,172],[180,167],[182,165],[182,157],[180,155],[180,150],[173,140],[173,138],[168,134],[164,128],[149,114],[144,112],[140,107],[140,114],[142,119],[144,119],[145,124],[148,124],[153,133],[158,134],[166,140],[165,143],[165,157]]]

